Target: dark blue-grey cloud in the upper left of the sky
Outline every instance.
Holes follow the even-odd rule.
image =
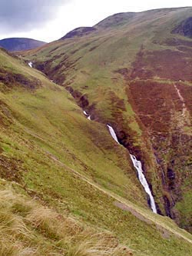
[[[0,32],[25,32],[55,18],[71,0],[0,0]]]

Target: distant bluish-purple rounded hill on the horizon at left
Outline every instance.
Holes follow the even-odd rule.
[[[0,40],[0,46],[10,52],[31,50],[45,44],[45,42],[31,38],[5,38]]]

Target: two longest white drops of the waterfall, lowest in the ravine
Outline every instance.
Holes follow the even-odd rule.
[[[109,130],[109,132],[111,134],[111,137],[114,138],[114,141],[116,141],[118,144],[120,144],[119,141],[118,141],[118,137],[117,137],[117,135],[114,132],[114,128],[112,128],[110,125],[107,125],[107,126],[108,126],[108,130]],[[146,191],[146,193],[149,195],[150,203],[151,203],[151,209],[152,209],[152,211],[154,213],[157,214],[157,208],[155,206],[154,197],[153,197],[153,195],[151,193],[149,185],[147,184],[147,180],[144,177],[141,161],[138,161],[137,158],[135,158],[134,155],[130,154],[130,156],[131,156],[131,161],[134,164],[134,168],[136,168],[136,170],[137,170],[139,181],[141,182],[141,185],[144,187],[144,190]]]

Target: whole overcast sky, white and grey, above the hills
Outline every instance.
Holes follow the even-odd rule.
[[[0,0],[0,39],[26,37],[51,42],[114,13],[191,5],[191,0]]]

